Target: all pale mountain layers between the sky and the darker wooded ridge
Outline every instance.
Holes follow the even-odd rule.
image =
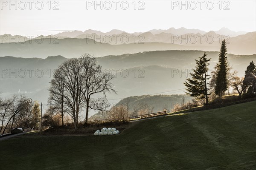
[[[221,40],[224,39],[231,54],[255,54],[256,32],[243,33],[227,28],[205,32],[182,27],[133,34],[121,30],[106,33],[91,29],[84,32],[75,30],[32,40],[20,35],[4,34],[0,36],[0,42],[3,42],[0,43],[0,56],[44,58],[61,55],[71,58],[83,53],[102,57],[162,50],[219,51]]]

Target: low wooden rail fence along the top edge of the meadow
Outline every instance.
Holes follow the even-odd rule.
[[[156,113],[149,113],[149,114],[143,114],[143,115],[139,115],[139,116],[132,116],[132,117],[128,117],[127,121],[134,121],[134,120],[139,120],[139,119],[146,119],[149,117],[156,117],[156,116],[163,116],[166,115],[167,112],[166,111],[160,111],[160,112],[156,112]],[[110,120],[110,119],[104,119],[104,120],[93,120],[93,121],[88,121],[88,124],[98,124],[98,123],[105,123],[105,122],[115,122],[116,120]],[[85,122],[78,122],[78,124],[84,124]],[[66,123],[65,125],[72,125],[73,123]]]

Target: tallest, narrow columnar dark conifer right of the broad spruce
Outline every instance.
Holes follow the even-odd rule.
[[[223,96],[224,92],[228,88],[228,62],[227,62],[227,45],[225,40],[222,41],[221,50],[219,54],[218,64],[216,65],[216,87],[215,94],[218,96]]]

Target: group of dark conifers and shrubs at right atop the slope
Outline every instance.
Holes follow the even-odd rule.
[[[196,99],[205,99],[205,104],[209,103],[209,95],[223,96],[229,87],[237,91],[239,97],[242,94],[252,94],[256,91],[256,65],[252,61],[248,65],[244,77],[236,76],[237,71],[231,71],[232,67],[227,59],[227,45],[225,40],[221,43],[218,55],[218,63],[215,65],[211,75],[209,71],[209,61],[204,52],[202,57],[195,59],[196,66],[190,73],[191,78],[187,78],[184,85],[186,94]],[[208,83],[209,82],[209,83]],[[209,86],[208,86],[209,85]]]

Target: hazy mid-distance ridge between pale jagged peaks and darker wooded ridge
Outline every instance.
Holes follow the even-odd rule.
[[[166,34],[162,33],[163,39],[170,41]],[[145,43],[127,43],[111,45],[108,43],[96,42],[92,39],[86,38],[45,38],[41,42],[40,40],[29,40],[23,43],[1,43],[0,44],[0,56],[16,56],[16,57],[40,57],[45,58],[46,56],[65,56],[67,58],[79,57],[83,53],[90,53],[95,57],[102,57],[107,55],[122,55],[122,54],[134,54],[144,51],[166,51],[166,50],[202,50],[202,51],[219,51],[224,36],[215,34],[215,32],[209,32],[204,34],[205,37],[210,35],[208,41],[212,38],[214,42],[200,42],[200,39],[196,43],[186,43],[186,40],[180,40],[177,37],[176,43],[166,42],[150,42],[154,41],[148,37],[150,35],[155,38],[158,34],[153,35],[152,33],[144,33]],[[195,35],[195,34],[192,34]],[[187,35],[189,36],[189,35]],[[158,38],[159,38],[158,37]],[[162,40],[163,40],[162,39]],[[39,41],[39,42],[38,42]],[[181,43],[180,43],[181,41]],[[191,40],[192,41],[192,40]],[[256,54],[256,32],[239,35],[237,37],[231,37],[227,39],[227,51],[231,54]]]

